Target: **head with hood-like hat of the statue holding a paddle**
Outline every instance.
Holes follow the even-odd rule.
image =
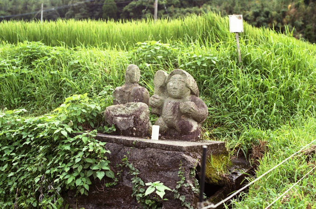
[[[167,93],[171,98],[181,99],[189,95],[199,96],[196,81],[184,70],[173,70],[168,75],[166,83]]]

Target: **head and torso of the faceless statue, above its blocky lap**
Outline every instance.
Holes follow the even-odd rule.
[[[128,102],[143,102],[149,104],[147,89],[138,84],[140,70],[136,65],[129,65],[125,71],[125,84],[117,87],[113,93],[113,104],[126,104]]]

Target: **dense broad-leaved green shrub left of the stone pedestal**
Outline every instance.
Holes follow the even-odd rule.
[[[113,179],[105,142],[94,139],[101,107],[84,95],[67,98],[55,113],[24,117],[0,113],[0,205],[63,206],[63,193],[88,194],[91,177]]]

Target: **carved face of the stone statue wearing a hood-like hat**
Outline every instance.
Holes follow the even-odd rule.
[[[168,96],[174,99],[182,99],[190,95],[191,90],[186,86],[182,75],[175,74],[167,83]]]

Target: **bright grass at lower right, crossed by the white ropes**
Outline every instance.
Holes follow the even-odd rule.
[[[258,137],[258,135],[264,136],[265,145],[269,150],[263,155],[262,160],[259,160],[257,176],[262,175],[300,150],[301,147],[312,142],[316,134],[315,122],[315,118],[300,118],[291,121],[291,126],[283,125],[274,131],[247,130],[249,138]],[[246,141],[248,137],[242,137],[240,141]],[[315,166],[315,150],[316,145],[314,144],[265,175],[252,184],[249,192],[241,195],[242,198],[233,200],[229,208],[265,208],[268,206]],[[254,178],[249,177],[249,180]],[[316,172],[314,170],[269,208],[315,208],[315,182]]]

